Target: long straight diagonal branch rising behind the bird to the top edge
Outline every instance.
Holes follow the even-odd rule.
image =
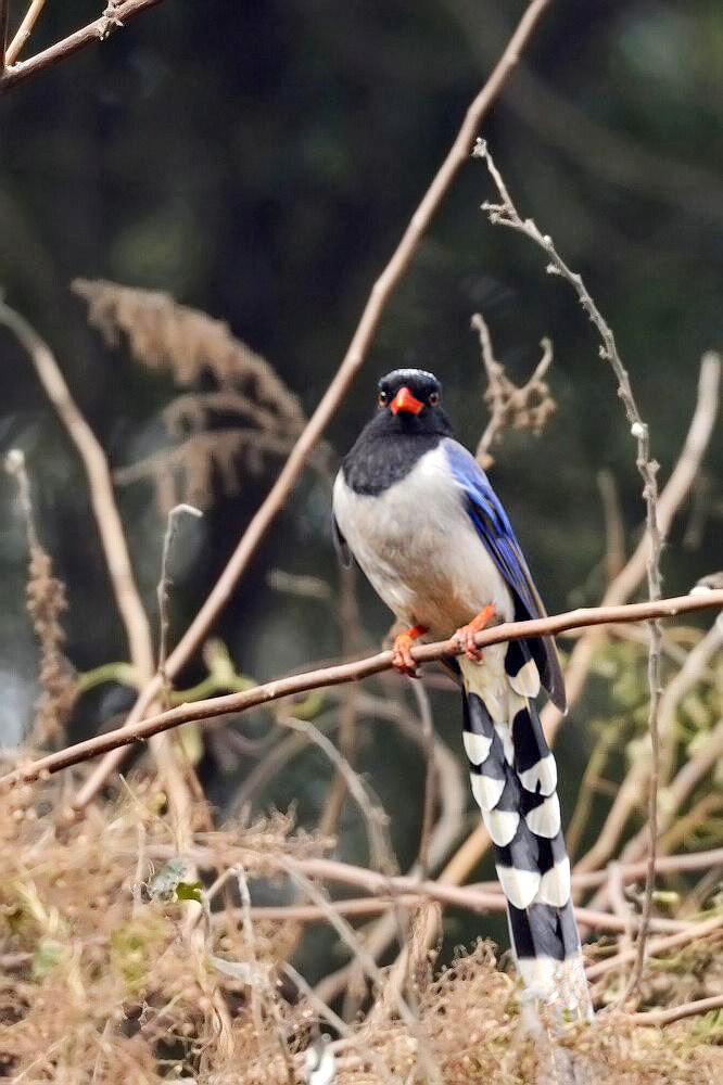
[[[295,486],[321,434],[344,399],[352,381],[364,363],[372,336],[391,295],[407,269],[417,245],[442,203],[457,171],[468,161],[470,148],[472,146],[482,117],[487,113],[490,106],[502,91],[537,20],[548,3],[549,0],[533,0],[529,5],[490,78],[467,110],[467,114],[452,148],[424,193],[417,210],[411,216],[389,264],[371,289],[359,323],[335,376],[321,397],[306,429],[291,450],[291,455],[281,469],[276,483],[251,520],[226,569],[185,636],[168,656],[166,674],[169,678],[173,678],[193,655],[193,652],[208,633],[208,628],[216,621],[219,611],[226,605],[261,540]],[[134,722],[142,719],[144,712],[157,695],[158,689],[160,681],[157,678],[147,686],[132,710],[130,718]],[[114,770],[122,760],[122,753],[113,753],[98,766],[97,770],[76,795],[76,808],[83,808],[90,802],[99,788],[102,787],[109,774]]]

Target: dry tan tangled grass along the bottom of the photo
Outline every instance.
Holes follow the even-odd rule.
[[[303,1080],[319,1020],[282,971],[297,930],[244,927],[237,873],[253,889],[268,877],[269,855],[275,865],[318,856],[330,841],[294,833],[280,815],[207,832],[199,809],[194,840],[213,855],[206,883],[216,881],[206,892],[183,881],[155,784],[137,780],[84,819],[64,813],[61,796],[58,781],[18,789],[0,819],[0,1075],[111,1085]],[[720,970],[710,952],[707,961]],[[515,985],[489,944],[436,975],[424,958],[407,1000],[414,1030],[393,1009],[373,1027],[354,1022],[337,1044],[339,1085],[538,1080],[545,1045],[523,1027]],[[658,1031],[618,1016],[568,1043],[596,1083],[703,1085],[723,1073],[716,1036],[714,1022]]]

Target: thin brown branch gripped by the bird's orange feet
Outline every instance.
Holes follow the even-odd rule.
[[[723,608],[723,589],[680,596],[674,599],[661,599],[656,602],[630,603],[625,607],[581,608],[565,614],[536,618],[533,622],[507,622],[483,629],[477,635],[475,642],[478,647],[486,648],[490,644],[498,644],[507,640],[555,636],[566,629],[580,629],[585,626],[607,625],[613,622],[646,622],[651,618],[674,617],[677,614],[689,614],[712,608]],[[445,656],[459,655],[460,648],[453,638],[434,644],[422,644],[413,649],[411,654],[416,663],[431,663]],[[60,750],[21,766],[14,773],[2,777],[0,786],[13,786],[22,781],[37,780],[110,750],[144,741],[151,736],[170,730],[173,727],[178,727],[180,724],[193,719],[208,719],[212,716],[226,715],[231,712],[245,712],[256,705],[278,701],[282,697],[291,697],[295,693],[304,693],[328,686],[340,686],[343,682],[358,681],[360,678],[368,678],[370,675],[391,668],[392,653],[390,651],[380,652],[378,655],[356,660],[352,663],[340,663],[337,666],[324,667],[306,674],[277,678],[240,693],[229,693],[226,697],[214,697],[206,701],[181,704],[141,722],[129,719],[124,727],[119,727],[115,731],[97,735],[94,738],[77,742],[66,750]]]

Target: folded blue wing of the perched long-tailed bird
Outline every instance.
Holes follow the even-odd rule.
[[[455,481],[465,493],[467,511],[477,533],[512,592],[516,618],[524,621],[543,617],[545,608],[520,544],[486,474],[471,452],[456,441],[446,438],[444,450]],[[522,641],[521,646],[527,646],[529,654],[537,664],[543,686],[555,704],[565,711],[565,684],[551,637],[530,639]],[[516,649],[511,641],[510,651],[515,655]],[[517,667],[512,673],[516,669]]]

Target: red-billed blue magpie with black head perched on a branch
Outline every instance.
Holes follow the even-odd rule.
[[[456,635],[465,655],[462,740],[492,838],[509,930],[532,997],[589,1012],[560,827],[557,767],[535,707],[541,686],[565,711],[550,638],[494,644],[474,634],[493,617],[545,611],[511,524],[474,457],[440,407],[432,373],[398,369],[379,382],[379,409],[343,460],[333,527],[396,617],[397,669],[414,673],[415,640]]]

